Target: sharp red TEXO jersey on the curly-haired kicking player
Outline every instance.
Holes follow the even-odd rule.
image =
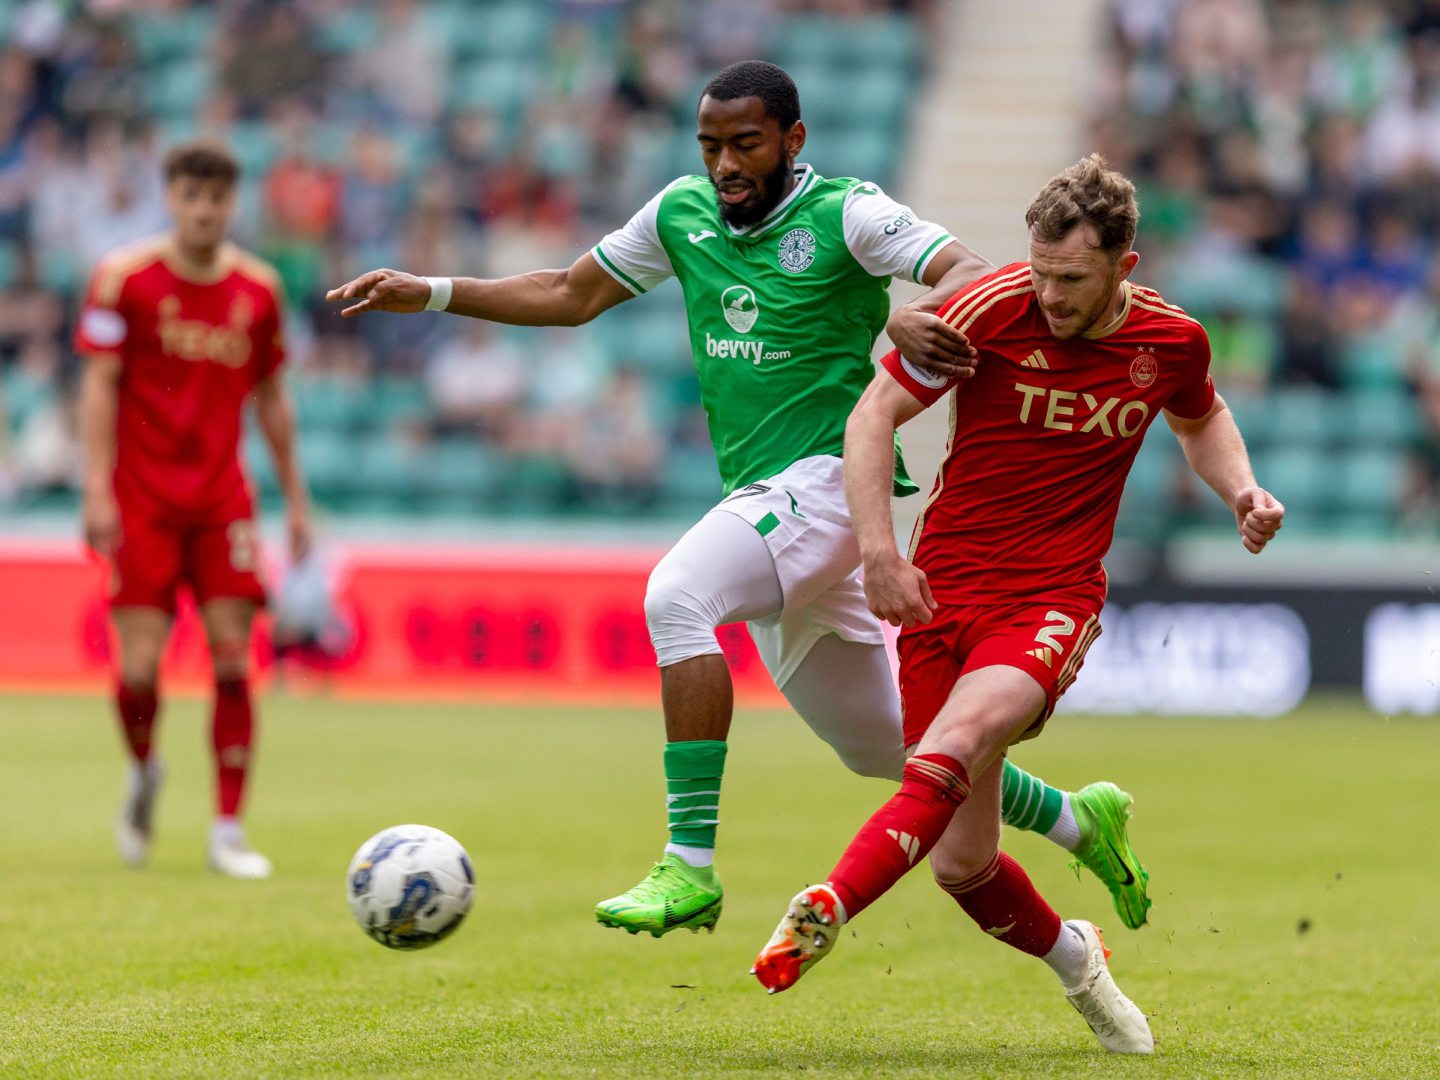
[[[897,351],[886,369],[930,405],[953,387],[950,441],[910,557],[940,603],[1079,590],[1104,599],[1102,557],[1146,429],[1169,409],[1210,412],[1210,340],[1159,294],[1125,282],[1125,308],[1092,336],[1050,333],[1030,264],[952,297],[940,317],[979,351],[956,384]]]

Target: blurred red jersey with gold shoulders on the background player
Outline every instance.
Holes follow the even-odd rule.
[[[249,498],[240,415],[284,360],[274,269],[233,245],[203,275],[168,238],[122,248],[91,278],[75,350],[121,361],[121,503],[203,514]]]

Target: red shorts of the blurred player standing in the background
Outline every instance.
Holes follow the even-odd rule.
[[[190,586],[197,605],[217,598],[264,605],[256,540],[249,500],[204,518],[121,505],[109,606],[174,613],[181,583]]]

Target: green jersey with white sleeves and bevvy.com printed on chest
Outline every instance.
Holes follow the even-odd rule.
[[[891,276],[920,281],[953,238],[876,184],[796,166],[765,220],[732,228],[706,176],[651,199],[593,249],[635,295],[675,276],[729,494],[801,458],[840,455],[874,367]],[[896,492],[914,484],[896,442]]]

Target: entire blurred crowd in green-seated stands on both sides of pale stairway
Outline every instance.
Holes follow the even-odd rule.
[[[569,264],[698,168],[698,88],[747,56],[796,76],[806,160],[903,196],[930,16],[884,0],[0,0],[0,510],[72,504],[78,292],[101,253],[164,228],[163,148],[210,134],[246,167],[238,239],[285,282],[321,505],[696,513],[719,481],[672,285],[580,331],[343,323],[324,288],[377,265]],[[1115,0],[1110,24],[1092,141],[1138,179],[1139,278],[1207,324],[1264,482],[1296,521],[1433,527],[1440,0]],[[1214,516],[1176,475],[1148,449],[1145,511],[1125,520],[1164,534]]]

